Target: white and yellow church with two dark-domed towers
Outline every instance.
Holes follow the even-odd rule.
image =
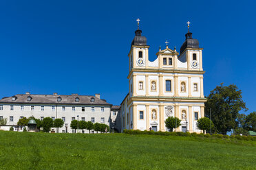
[[[164,121],[178,117],[175,132],[197,132],[196,123],[204,117],[202,48],[189,31],[180,47],[159,49],[149,61],[149,45],[142,30],[135,32],[129,51],[129,93],[122,101],[122,130],[169,131]]]

